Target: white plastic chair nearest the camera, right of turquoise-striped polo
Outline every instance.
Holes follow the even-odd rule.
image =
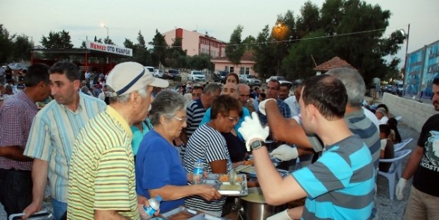
[[[395,177],[397,177],[397,179],[400,179],[402,175],[402,160],[410,153],[412,153],[412,150],[401,150],[395,152],[395,157],[393,157],[392,159],[380,159],[380,162],[392,163],[388,172],[378,171],[379,175],[384,176],[388,179],[390,200],[393,200],[393,195],[395,195]]]

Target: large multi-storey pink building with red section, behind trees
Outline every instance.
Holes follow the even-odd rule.
[[[208,33],[177,28],[163,33],[167,45],[174,44],[175,39],[182,39],[182,49],[188,56],[208,54],[212,58],[226,56],[226,42],[210,37]]]

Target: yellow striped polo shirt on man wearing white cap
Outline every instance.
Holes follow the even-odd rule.
[[[72,150],[68,219],[94,219],[94,210],[116,210],[140,219],[129,125],[110,106],[91,119]]]

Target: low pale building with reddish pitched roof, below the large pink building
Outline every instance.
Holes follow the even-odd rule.
[[[257,72],[253,68],[253,65],[256,63],[253,51],[246,51],[241,57],[241,63],[238,65],[231,63],[226,56],[212,58],[210,62],[215,65],[215,70],[226,70],[236,74],[254,75],[257,77]]]

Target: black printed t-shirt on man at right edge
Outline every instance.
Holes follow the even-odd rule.
[[[413,176],[413,186],[423,193],[439,197],[439,114],[422,127],[418,145],[424,148],[421,163]]]

